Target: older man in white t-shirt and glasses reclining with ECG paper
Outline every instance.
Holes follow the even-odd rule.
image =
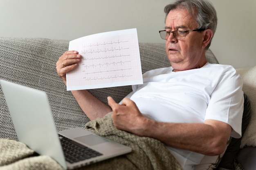
[[[185,170],[202,160],[216,163],[230,136],[241,136],[242,80],[228,65],[207,63],[217,26],[216,11],[204,0],[178,0],[164,9],[166,54],[171,67],[146,72],[144,84],[117,104],[101,103],[87,90],[72,91],[91,119],[112,112],[116,128],[162,141]],[[65,74],[78,66],[81,55],[66,51],[56,69]],[[154,127],[154,128],[152,128]]]

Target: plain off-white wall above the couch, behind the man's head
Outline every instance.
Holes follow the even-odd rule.
[[[164,6],[172,0],[0,0],[0,37],[73,40],[137,28],[139,42],[165,42]],[[256,65],[256,0],[210,0],[218,28],[210,49],[222,64]]]

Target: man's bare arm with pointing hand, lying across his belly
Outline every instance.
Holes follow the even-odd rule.
[[[216,120],[204,123],[164,123],[145,118],[136,104],[128,98],[121,105],[108,97],[112,107],[113,122],[120,130],[138,136],[148,136],[166,145],[191,150],[205,155],[218,155],[224,152],[231,134],[231,126]]]

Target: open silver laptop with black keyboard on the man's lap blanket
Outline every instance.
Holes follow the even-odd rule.
[[[64,169],[131,152],[130,147],[82,128],[57,132],[45,92],[4,80],[0,84],[19,141],[40,155],[52,157]]]

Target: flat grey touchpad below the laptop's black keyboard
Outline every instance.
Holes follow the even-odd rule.
[[[78,137],[78,138],[74,138],[80,142],[83,142],[85,143],[86,145],[98,145],[98,144],[101,144],[101,143],[104,143],[104,142],[109,142],[108,139],[104,139],[100,136],[96,136],[94,134],[89,134],[89,135],[86,135],[86,136],[81,136],[81,137]]]

